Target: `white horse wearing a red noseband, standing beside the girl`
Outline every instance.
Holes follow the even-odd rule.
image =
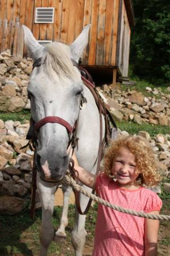
[[[31,100],[31,115],[34,122],[49,116],[64,119],[71,127],[77,120],[78,113],[78,149],[75,149],[78,163],[85,169],[96,172],[99,147],[99,113],[93,95],[81,80],[77,67],[71,59],[78,62],[88,43],[90,25],[67,46],[52,42],[41,46],[31,31],[23,26],[24,41],[35,63],[28,83],[28,96]],[[87,99],[86,107],[80,110],[80,95]],[[103,121],[104,122],[104,121]],[[104,125],[103,125],[104,127]],[[103,135],[105,128],[103,128]],[[60,227],[53,229],[54,195],[57,181],[63,179],[68,169],[68,129],[61,123],[43,123],[37,131],[36,165],[38,167],[37,187],[42,202],[42,225],[40,229],[40,255],[47,255],[48,247],[53,239],[57,241],[65,236],[65,226],[68,225],[68,198],[71,189],[65,191],[63,214]],[[51,183],[56,181],[56,183]],[[86,187],[86,189],[88,189]],[[80,195],[82,209],[85,209],[88,198]],[[76,256],[81,256],[85,245],[85,215],[76,210],[76,223],[72,231],[72,244]]]

